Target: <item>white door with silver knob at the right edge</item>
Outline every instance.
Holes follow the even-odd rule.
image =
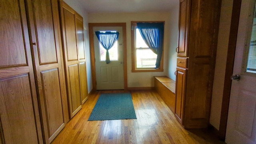
[[[256,144],[256,16],[255,0],[242,0],[228,122],[227,144]],[[252,23],[253,22],[253,23]]]

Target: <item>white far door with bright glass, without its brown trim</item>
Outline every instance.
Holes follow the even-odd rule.
[[[94,27],[94,57],[97,90],[124,89],[122,27]],[[116,44],[109,50],[110,63],[106,64],[106,50],[101,46],[96,31],[119,32]]]

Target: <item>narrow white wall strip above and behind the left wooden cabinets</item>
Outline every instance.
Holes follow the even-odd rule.
[[[92,90],[92,70],[90,61],[90,45],[89,45],[89,31],[88,31],[88,13],[84,10],[81,4],[75,0],[64,0],[71,8],[84,18],[84,46],[86,52],[86,73],[88,92]]]

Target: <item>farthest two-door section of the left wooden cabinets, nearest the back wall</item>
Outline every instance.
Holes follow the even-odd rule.
[[[83,18],[65,2],[60,2],[63,53],[70,118],[86,101],[87,79]]]

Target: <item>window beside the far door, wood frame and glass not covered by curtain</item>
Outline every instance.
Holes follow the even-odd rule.
[[[163,54],[160,67],[156,68],[157,54],[155,54],[144,42],[137,26],[137,22],[132,22],[132,72],[162,72]]]

